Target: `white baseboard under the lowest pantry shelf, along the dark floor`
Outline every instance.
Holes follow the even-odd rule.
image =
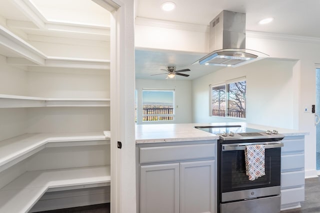
[[[110,187],[45,193],[29,213],[110,203]]]

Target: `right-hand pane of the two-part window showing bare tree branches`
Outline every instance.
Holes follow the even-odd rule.
[[[227,84],[227,116],[245,118],[245,81]]]

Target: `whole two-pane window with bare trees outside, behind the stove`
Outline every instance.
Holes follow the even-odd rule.
[[[245,78],[210,86],[211,116],[245,118]]]

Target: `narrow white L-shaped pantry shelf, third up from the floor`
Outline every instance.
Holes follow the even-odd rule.
[[[110,106],[109,98],[41,98],[0,94],[0,108],[108,106]]]

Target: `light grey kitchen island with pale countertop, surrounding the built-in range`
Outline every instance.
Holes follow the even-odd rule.
[[[235,123],[136,125],[137,212],[217,212],[217,140],[195,126],[241,125],[284,135],[281,210],[304,201],[304,135],[296,130]]]

